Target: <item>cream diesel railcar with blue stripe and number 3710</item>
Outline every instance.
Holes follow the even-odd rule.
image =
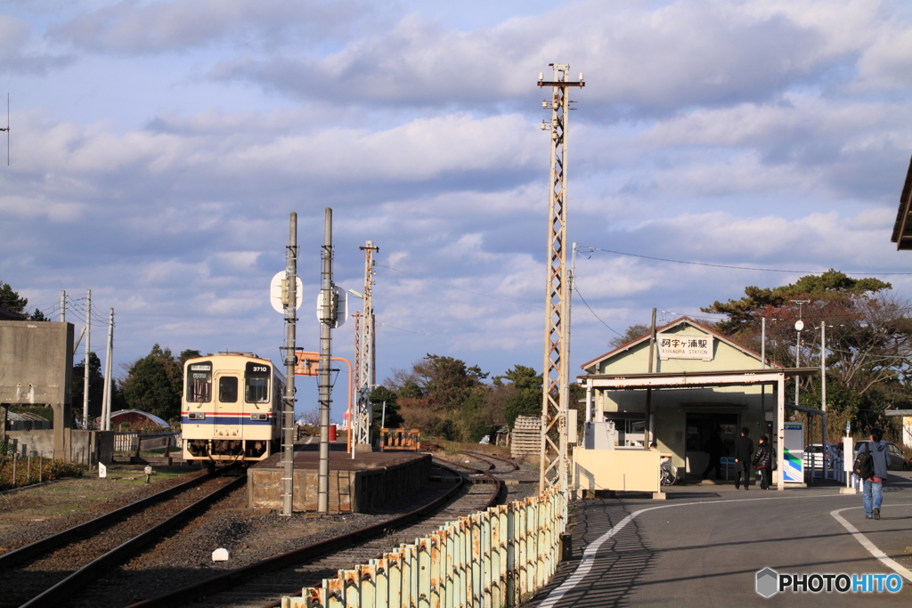
[[[262,460],[278,449],[285,376],[252,353],[184,364],[181,438],[187,460]]]

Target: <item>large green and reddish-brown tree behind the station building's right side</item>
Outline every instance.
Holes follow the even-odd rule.
[[[825,323],[831,427],[849,421],[858,428],[878,420],[886,423],[881,417],[883,407],[912,396],[907,382],[912,363],[909,303],[890,294],[890,289],[889,283],[878,279],[852,279],[831,269],[782,287],[747,287],[741,299],[716,302],[702,310],[727,314],[715,329],[757,351],[764,346],[765,319],[766,354],[785,366],[820,365],[824,350],[820,325]],[[793,300],[807,302],[799,306]],[[804,323],[800,346],[794,329],[799,318]],[[800,405],[819,407],[820,379],[805,378],[801,385]]]

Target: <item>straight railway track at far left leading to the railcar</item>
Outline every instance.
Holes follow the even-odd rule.
[[[234,470],[234,469],[232,469]],[[67,605],[78,590],[241,485],[202,475],[0,556],[0,608]],[[227,474],[226,474],[227,473]]]

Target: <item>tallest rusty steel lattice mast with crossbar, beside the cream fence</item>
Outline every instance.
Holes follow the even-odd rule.
[[[567,409],[570,401],[570,294],[566,270],[566,168],[571,87],[584,87],[568,80],[569,64],[551,64],[552,80],[539,74],[538,86],[551,87],[551,121],[542,130],[551,132],[551,162],[548,171],[548,267],[544,301],[544,374],[542,386],[542,443],[539,490],[557,486],[567,489]],[[551,437],[556,431],[557,441]]]

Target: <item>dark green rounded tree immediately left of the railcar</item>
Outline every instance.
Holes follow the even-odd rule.
[[[149,355],[130,366],[123,385],[131,408],[169,421],[181,415],[182,389],[183,366],[171,355],[170,348],[162,349],[160,345],[153,345]]]

